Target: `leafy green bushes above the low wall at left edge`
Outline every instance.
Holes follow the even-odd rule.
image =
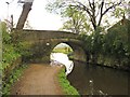
[[[12,63],[22,56],[28,56],[28,44],[22,41],[21,32],[9,32],[5,23],[1,23],[2,32],[2,70],[11,67]]]

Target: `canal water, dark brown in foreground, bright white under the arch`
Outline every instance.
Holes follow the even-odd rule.
[[[69,61],[64,54],[57,54],[56,58],[55,60],[62,64]],[[80,95],[128,95],[128,92],[130,93],[128,72],[80,61],[73,63],[73,70],[67,79]],[[69,68],[70,65],[65,66]]]

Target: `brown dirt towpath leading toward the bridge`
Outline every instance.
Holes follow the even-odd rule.
[[[11,95],[63,95],[58,84],[60,66],[31,64],[14,83]]]

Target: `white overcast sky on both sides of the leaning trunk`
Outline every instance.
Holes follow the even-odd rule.
[[[14,23],[22,13],[22,4],[17,3],[18,0],[0,0],[0,19],[6,19],[8,16],[13,14]],[[8,5],[8,3],[10,4]],[[44,29],[44,30],[57,30],[62,27],[62,18],[53,13],[46,11],[47,0],[34,0],[31,11],[29,12],[27,20],[34,29]],[[8,9],[9,6],[9,9]]]

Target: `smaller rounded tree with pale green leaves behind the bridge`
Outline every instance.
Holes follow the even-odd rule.
[[[62,16],[68,17],[62,29],[70,30],[74,33],[87,32],[90,30],[90,25],[87,24],[83,12],[79,12],[75,8],[68,6]]]

